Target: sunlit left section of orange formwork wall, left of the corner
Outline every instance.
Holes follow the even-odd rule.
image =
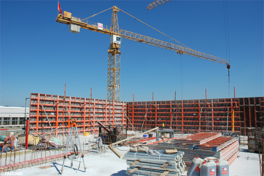
[[[125,108],[126,103],[119,101],[31,93],[30,132],[42,134],[52,127],[56,136],[69,133],[70,117],[77,119],[79,132],[98,132],[96,118],[102,124],[126,124]]]

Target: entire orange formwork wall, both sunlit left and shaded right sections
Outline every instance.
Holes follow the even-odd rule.
[[[42,134],[50,131],[51,125],[56,129],[56,136],[68,133],[70,116],[66,107],[70,116],[77,118],[81,133],[98,132],[96,117],[103,124],[128,124],[133,130],[130,122],[126,121],[126,115],[139,131],[162,128],[164,123],[163,128],[172,128],[179,133],[224,132],[227,110],[228,131],[232,131],[232,124],[234,132],[242,135],[246,135],[246,127],[264,127],[264,97],[126,103],[31,93],[30,132]]]

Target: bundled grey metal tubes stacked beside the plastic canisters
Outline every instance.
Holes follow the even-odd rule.
[[[129,166],[126,174],[140,176],[181,176],[186,167],[182,160],[184,152],[174,154],[165,154],[164,150],[158,150],[158,152],[160,154],[128,151],[123,157]]]

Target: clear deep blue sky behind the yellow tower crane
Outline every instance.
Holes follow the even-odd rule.
[[[154,0],[61,0],[62,11],[86,18],[114,5],[189,48],[230,61],[226,65],[181,56],[136,41],[121,43],[120,101],[264,96],[264,1],[172,0],[151,10]],[[228,17],[226,54],[224,5]],[[30,93],[107,99],[110,36],[86,29],[75,34],[57,23],[58,1],[0,0],[0,105],[24,106]],[[111,25],[112,11],[89,19]],[[118,12],[119,29],[177,44]],[[227,21],[226,21],[227,29]],[[226,30],[227,32],[227,30]],[[227,39],[228,40],[228,39]],[[183,89],[183,91],[181,91]]]

